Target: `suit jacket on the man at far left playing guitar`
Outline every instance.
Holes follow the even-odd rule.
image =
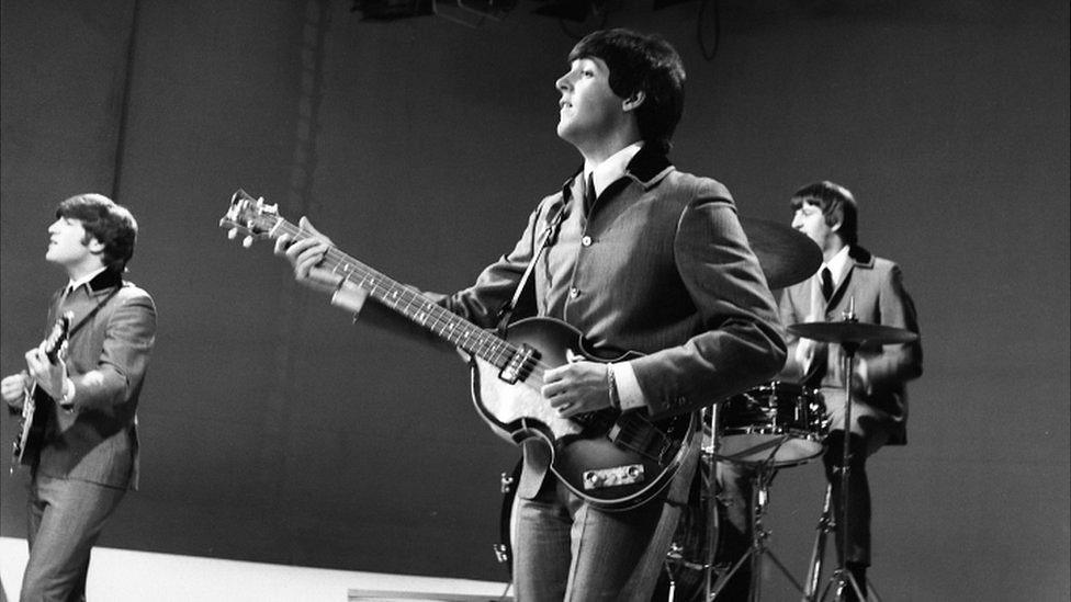
[[[53,297],[48,323],[64,311],[74,313],[67,370],[75,384],[75,409],[67,412],[56,404],[42,408],[48,422],[35,469],[137,489],[137,404],[156,340],[156,306],[148,293],[111,270],[66,299],[61,293]]]

